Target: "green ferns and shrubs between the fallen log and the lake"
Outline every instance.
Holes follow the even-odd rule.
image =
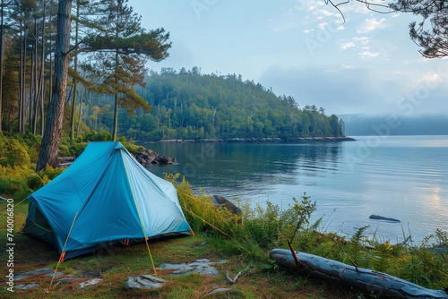
[[[176,176],[168,175],[167,179]],[[434,289],[448,284],[448,235],[437,229],[420,244],[404,241],[391,244],[365,234],[366,227],[349,238],[319,231],[322,219],[310,223],[315,202],[310,197],[294,199],[289,209],[267,203],[251,207],[242,205],[240,215],[216,209],[206,194],[194,196],[189,185],[177,184],[177,192],[185,216],[196,233],[212,236],[217,250],[242,254],[264,263],[264,269],[275,268],[268,259],[272,248],[289,248],[288,240],[298,252],[308,252],[346,264],[375,269]],[[409,238],[410,239],[410,238]]]

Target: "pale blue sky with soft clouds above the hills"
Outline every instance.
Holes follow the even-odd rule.
[[[129,0],[142,27],[172,47],[148,68],[241,74],[299,107],[327,115],[448,115],[448,59],[427,59],[409,38],[419,16],[324,0]]]

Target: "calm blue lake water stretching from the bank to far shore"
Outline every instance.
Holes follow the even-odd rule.
[[[150,171],[185,175],[195,189],[287,209],[304,192],[322,231],[415,243],[448,230],[448,136],[355,136],[311,143],[143,143],[177,158]],[[369,219],[375,214],[401,223]]]

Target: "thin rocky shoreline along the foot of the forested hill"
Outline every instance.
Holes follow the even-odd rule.
[[[139,143],[281,143],[281,142],[340,142],[340,141],[356,141],[351,137],[297,137],[297,138],[228,138],[228,139],[163,139],[159,141],[136,141]]]

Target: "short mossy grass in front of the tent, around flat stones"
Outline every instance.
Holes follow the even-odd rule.
[[[5,202],[0,202],[2,210]],[[15,207],[14,224],[14,273],[19,274],[34,269],[50,267],[55,269],[59,258],[55,249],[47,243],[35,240],[18,232],[26,215],[27,204]],[[2,223],[5,216],[3,215]],[[1,243],[7,243],[4,226],[1,230]],[[87,289],[78,287],[79,281],[50,286],[51,278],[29,278],[17,284],[39,283],[40,287],[27,291],[15,290],[10,293],[5,284],[0,289],[1,297],[8,298],[202,298],[212,290],[223,287],[230,290],[225,294],[211,298],[349,298],[349,290],[334,286],[331,283],[294,276],[280,269],[263,269],[259,261],[248,259],[244,255],[228,255],[220,250],[220,240],[198,234],[192,237],[182,237],[151,243],[151,254],[156,266],[161,263],[190,263],[197,259],[208,258],[211,261],[226,260],[217,264],[220,271],[218,277],[208,277],[199,274],[186,276],[169,276],[172,270],[158,270],[159,278],[167,279],[165,286],[157,291],[127,290],[125,281],[128,276],[151,274],[151,259],[146,245],[137,244],[125,247],[113,247],[108,250],[88,254],[72,260],[64,261],[58,271],[65,275],[88,280],[100,277],[104,281],[99,286]],[[5,254],[2,254],[2,266],[6,271]],[[235,285],[229,285],[225,278],[228,271],[233,278],[238,272],[244,271]]]

